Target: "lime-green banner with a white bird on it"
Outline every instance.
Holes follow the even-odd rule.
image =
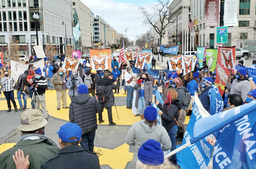
[[[206,49],[206,64],[209,71],[214,71],[217,64],[218,49]]]

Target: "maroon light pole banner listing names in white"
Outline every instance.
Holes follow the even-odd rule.
[[[219,26],[219,0],[205,0],[205,26]]]

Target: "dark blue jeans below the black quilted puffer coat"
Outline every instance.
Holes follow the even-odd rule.
[[[95,131],[82,135],[82,140],[80,142],[81,147],[87,151],[93,152],[94,138],[95,138]]]

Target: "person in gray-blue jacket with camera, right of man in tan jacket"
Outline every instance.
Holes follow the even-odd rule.
[[[78,95],[78,86],[84,84],[81,77],[77,76],[76,71],[72,70],[71,76],[68,78],[67,88],[70,100]]]

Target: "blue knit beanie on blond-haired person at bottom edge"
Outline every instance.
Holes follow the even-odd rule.
[[[164,163],[164,151],[159,142],[149,139],[140,147],[138,158],[147,165],[161,165]]]

